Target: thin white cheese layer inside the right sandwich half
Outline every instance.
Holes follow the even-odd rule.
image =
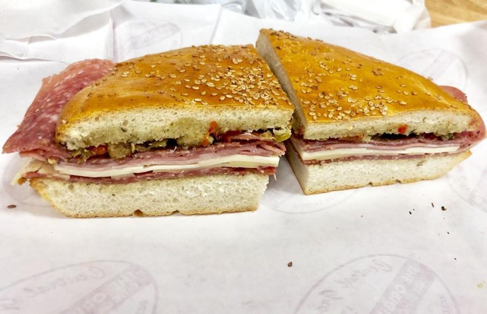
[[[409,147],[400,149],[376,149],[367,147],[351,147],[351,148],[337,148],[320,150],[314,152],[306,152],[294,145],[294,149],[299,153],[303,161],[308,160],[329,160],[344,158],[349,156],[363,156],[363,155],[399,155],[399,154],[433,154],[442,152],[455,152],[460,146],[438,146],[438,147]]]

